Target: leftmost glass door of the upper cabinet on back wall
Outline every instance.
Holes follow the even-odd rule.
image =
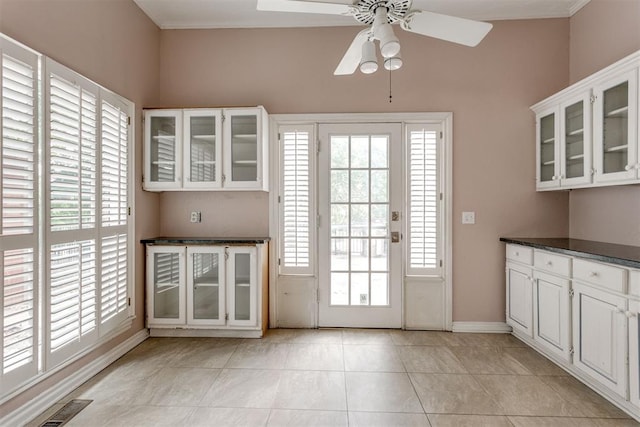
[[[147,110],[144,134],[145,190],[182,187],[182,111]]]

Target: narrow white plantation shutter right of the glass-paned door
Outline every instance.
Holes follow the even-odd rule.
[[[408,274],[436,274],[440,268],[438,126],[407,125]]]

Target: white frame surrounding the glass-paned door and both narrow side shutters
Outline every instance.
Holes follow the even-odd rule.
[[[296,124],[323,124],[323,123],[391,123],[398,122],[408,123],[438,123],[442,125],[444,131],[443,150],[441,155],[443,171],[442,192],[444,198],[444,213],[442,217],[442,231],[444,236],[445,247],[443,250],[444,262],[444,296],[442,298],[443,318],[441,324],[429,325],[425,329],[439,329],[451,331],[453,326],[453,291],[452,291],[452,238],[453,238],[453,197],[452,197],[452,178],[453,178],[453,113],[451,112],[435,112],[435,113],[353,113],[353,114],[272,114],[269,116],[270,122],[270,180],[269,180],[269,236],[271,241],[269,244],[269,327],[279,327],[278,320],[278,296],[284,286],[285,281],[295,282],[301,293],[308,295],[317,295],[317,266],[313,276],[279,276],[278,254],[278,233],[279,233],[279,214],[278,214],[278,193],[280,188],[280,147],[278,141],[278,127],[280,125],[296,125]],[[404,126],[403,126],[404,132]],[[314,224],[315,226],[315,218]],[[403,263],[404,264],[404,263]],[[408,278],[404,277],[404,287],[408,283]],[[406,307],[406,302],[403,304]],[[406,319],[402,319],[402,327],[405,327]],[[309,316],[308,320],[303,323],[286,326],[314,328],[318,326],[317,310],[313,316]],[[412,326],[417,329],[416,326]]]

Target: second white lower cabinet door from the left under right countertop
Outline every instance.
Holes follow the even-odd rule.
[[[568,279],[534,272],[533,339],[570,361]]]

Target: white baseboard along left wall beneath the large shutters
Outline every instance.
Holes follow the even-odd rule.
[[[25,425],[148,337],[149,331],[142,329],[140,332],[109,350],[108,353],[94,359],[73,374],[64,378],[54,387],[38,395],[35,399],[30,400],[18,409],[7,414],[4,418],[0,419],[0,426]]]

